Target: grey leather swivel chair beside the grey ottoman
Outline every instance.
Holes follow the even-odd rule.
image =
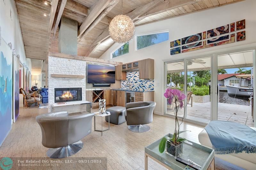
[[[128,129],[133,132],[147,132],[150,130],[148,123],[153,121],[153,112],[156,107],[154,101],[126,103],[125,119]]]

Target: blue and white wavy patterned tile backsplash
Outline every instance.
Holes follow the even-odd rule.
[[[153,91],[154,79],[140,79],[139,71],[127,72],[126,80],[121,81],[121,88],[125,90]]]

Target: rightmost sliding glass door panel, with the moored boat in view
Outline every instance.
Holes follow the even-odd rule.
[[[218,55],[218,120],[254,126],[253,52]]]

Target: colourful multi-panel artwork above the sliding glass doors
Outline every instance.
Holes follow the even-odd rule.
[[[170,42],[171,55],[245,40],[245,19]]]

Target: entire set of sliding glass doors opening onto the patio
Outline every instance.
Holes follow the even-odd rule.
[[[211,54],[164,65],[164,89],[179,89],[187,96],[186,107],[179,109],[180,118],[184,115],[184,120],[202,125],[224,120],[255,126],[255,50]],[[173,117],[174,105],[164,101],[164,114]]]

